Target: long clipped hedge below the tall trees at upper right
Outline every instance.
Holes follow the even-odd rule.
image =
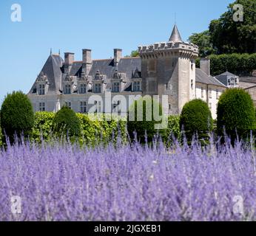
[[[248,75],[256,69],[256,53],[210,55],[209,59],[211,60],[211,74],[214,76],[226,71],[237,75]],[[200,67],[200,58],[196,60],[196,66]]]

